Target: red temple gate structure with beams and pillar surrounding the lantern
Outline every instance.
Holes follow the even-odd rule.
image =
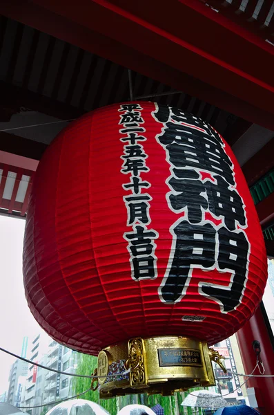
[[[274,257],[274,3],[268,0],[3,0],[0,4],[0,213],[24,218],[38,162],[72,119],[151,100],[211,124],[231,145]],[[29,126],[32,126],[31,128]],[[246,373],[262,308],[238,333]],[[250,378],[273,414],[274,378]]]

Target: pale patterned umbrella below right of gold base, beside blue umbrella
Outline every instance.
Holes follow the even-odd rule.
[[[200,408],[221,408],[226,407],[228,403],[220,394],[210,391],[191,392],[181,403],[182,406],[200,407]]]

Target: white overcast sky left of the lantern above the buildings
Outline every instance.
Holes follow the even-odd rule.
[[[18,355],[23,336],[33,340],[41,331],[30,313],[23,289],[24,228],[24,220],[0,216],[0,346]],[[0,394],[8,389],[10,365],[14,360],[0,351]]]

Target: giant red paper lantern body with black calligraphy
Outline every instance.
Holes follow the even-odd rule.
[[[96,354],[136,336],[227,338],[262,299],[266,253],[219,134],[179,109],[129,102],[72,122],[47,149],[23,273],[43,329]]]

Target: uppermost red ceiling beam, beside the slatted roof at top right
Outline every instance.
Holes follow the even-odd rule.
[[[262,70],[260,64],[266,61],[273,62],[274,48],[199,0],[171,0],[168,7],[157,0],[139,0],[138,4],[128,0],[95,1],[118,6],[153,24],[167,35],[183,39],[188,44],[221,59],[225,64],[236,66],[239,70],[273,85],[272,68],[266,67]]]

